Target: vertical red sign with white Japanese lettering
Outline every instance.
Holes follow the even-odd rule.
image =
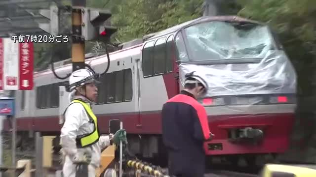
[[[33,43],[19,43],[19,89],[33,89]]]

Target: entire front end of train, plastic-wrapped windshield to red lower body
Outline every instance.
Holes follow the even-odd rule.
[[[268,26],[246,19],[201,18],[175,36],[180,89],[203,71],[199,99],[215,136],[208,155],[282,153],[296,108],[296,73]]]

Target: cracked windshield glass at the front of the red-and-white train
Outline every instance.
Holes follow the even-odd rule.
[[[206,22],[184,31],[194,60],[262,58],[273,49],[267,26]]]

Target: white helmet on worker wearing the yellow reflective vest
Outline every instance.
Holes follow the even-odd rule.
[[[69,91],[88,83],[100,83],[97,81],[99,74],[94,73],[90,69],[78,69],[69,77]]]

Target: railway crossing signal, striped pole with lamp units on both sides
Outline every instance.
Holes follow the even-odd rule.
[[[85,67],[84,41],[98,40],[108,43],[117,28],[105,25],[112,16],[110,10],[85,7],[85,0],[72,0],[72,4],[70,8],[72,10],[72,62],[73,71],[75,71]],[[40,29],[52,35],[58,35],[61,31],[59,30],[59,7],[52,5],[50,9],[41,9],[40,14],[50,19],[48,24],[39,24]]]

